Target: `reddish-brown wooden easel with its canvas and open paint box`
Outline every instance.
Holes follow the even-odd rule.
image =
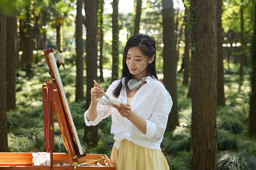
[[[56,69],[53,49],[44,50],[46,61],[49,67],[49,78],[43,85],[43,108],[44,108],[44,138],[46,138],[46,151],[50,153],[50,165],[35,165],[34,152],[0,152],[0,170],[1,169],[20,169],[20,170],[97,170],[97,169],[115,169],[114,164],[108,156],[101,154],[85,154],[80,145],[72,114],[69,111],[67,99],[65,98],[59,71]],[[56,74],[57,72],[57,74]],[[53,153],[54,148],[54,113],[59,123],[61,135],[63,137],[66,153]],[[45,154],[45,153],[44,153]],[[86,156],[85,156],[86,155]],[[102,159],[104,158],[104,159]],[[105,167],[97,167],[90,163],[98,162]],[[79,166],[77,166],[78,164]],[[68,165],[57,165],[67,163]],[[90,164],[90,165],[89,165]],[[72,166],[71,166],[72,165]]]

